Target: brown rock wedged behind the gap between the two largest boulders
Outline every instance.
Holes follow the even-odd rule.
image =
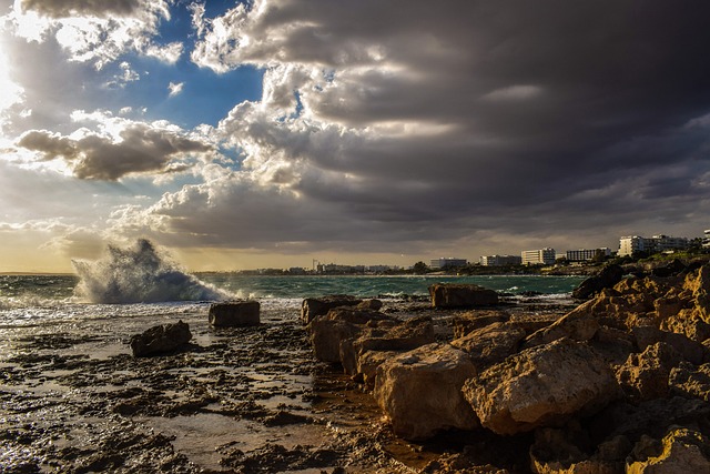
[[[525,331],[517,324],[497,322],[452,341],[452,345],[468,353],[476,367],[481,370],[517,352],[524,337]]]

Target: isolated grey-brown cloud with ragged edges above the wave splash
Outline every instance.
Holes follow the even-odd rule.
[[[185,153],[211,150],[205,143],[141,123],[123,129],[120,138],[118,142],[98,134],[73,139],[33,130],[24,133],[18,145],[42,152],[44,160],[63,159],[79,179],[105,181],[132,173],[183,170],[184,165],[171,167],[171,162]]]

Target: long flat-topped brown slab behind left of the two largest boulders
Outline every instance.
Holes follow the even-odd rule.
[[[434,341],[430,316],[392,320],[377,327],[364,327],[357,337],[342,340],[341,363],[345,373],[356,374],[358,359],[367,351],[409,351]]]

